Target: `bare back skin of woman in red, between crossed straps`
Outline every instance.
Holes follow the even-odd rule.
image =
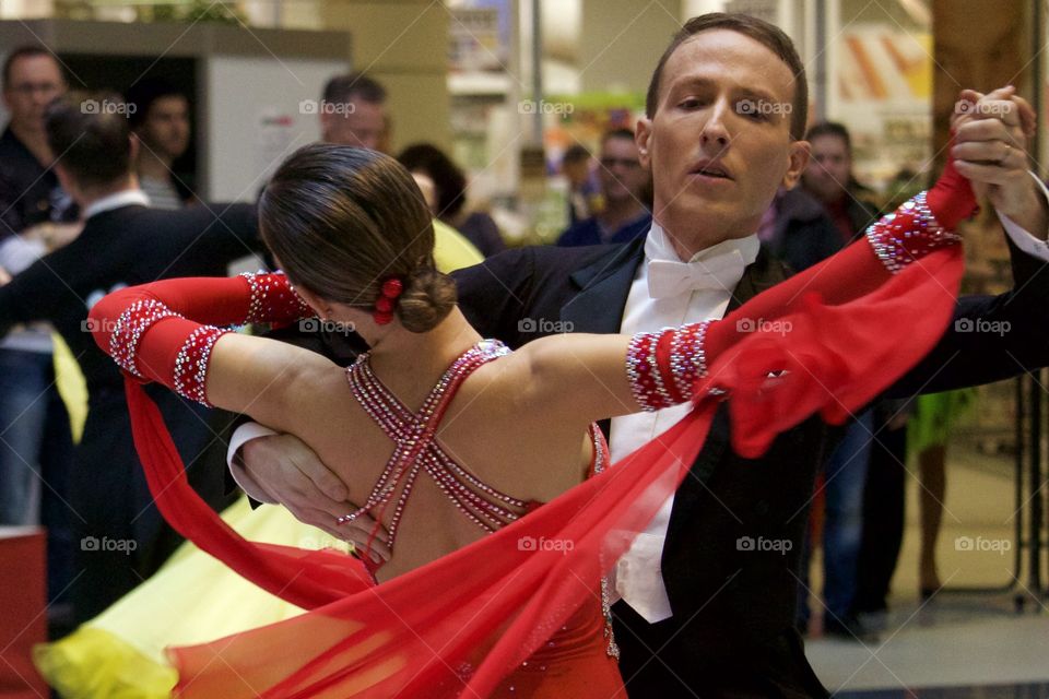
[[[521,364],[516,355],[508,355],[473,370],[451,398],[436,441],[449,459],[490,488],[522,502],[544,502],[584,479],[593,443],[585,424],[550,419],[534,407],[527,381],[521,381],[527,370]],[[374,377],[415,415],[441,378],[441,372],[417,364],[380,371],[375,369]],[[346,370],[318,367],[306,380],[314,400],[296,410],[296,434],[347,485],[350,501],[363,505],[394,455],[396,445],[354,395]],[[384,528],[391,524],[400,493],[398,487],[385,508],[370,512]],[[506,507],[491,495],[481,495]],[[484,534],[421,469],[400,518],[392,558],[377,577],[393,578]]]

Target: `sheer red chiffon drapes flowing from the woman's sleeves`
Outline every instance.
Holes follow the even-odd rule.
[[[854,244],[711,328],[709,378],[677,425],[515,524],[378,587],[341,554],[241,540],[189,488],[160,413],[128,381],[135,445],[168,521],[245,577],[313,609],[173,649],[178,694],[488,696],[592,600],[601,574],[676,489],[717,406],[707,389],[731,395],[733,446],[744,455],[814,412],[840,423],[931,350],[960,273],[958,247],[888,276],[869,244]],[[860,293],[836,291],[845,279]],[[738,320],[755,318],[766,330],[735,331]],[[522,544],[552,540],[561,545]]]

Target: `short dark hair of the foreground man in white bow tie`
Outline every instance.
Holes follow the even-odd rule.
[[[692,17],[685,25],[674,34],[670,46],[663,51],[652,72],[652,80],[648,83],[648,94],[645,97],[645,115],[651,119],[656,116],[656,108],[659,106],[659,87],[662,78],[663,66],[670,60],[671,55],[677,47],[686,40],[699,34],[711,29],[729,29],[743,36],[749,36],[762,46],[776,54],[790,69],[794,75],[794,99],[791,103],[790,114],[790,138],[801,139],[805,131],[805,122],[809,119],[809,81],[805,78],[805,67],[798,56],[798,49],[794,43],[790,40],[782,29],[775,24],[769,24],[765,20],[759,20],[749,14],[728,14],[724,12],[710,12]]]

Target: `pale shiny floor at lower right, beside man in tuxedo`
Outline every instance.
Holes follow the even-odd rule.
[[[938,560],[947,588],[992,587],[1013,574],[1005,545],[975,550],[965,542],[1013,542],[1016,506],[1005,459],[958,450],[947,472],[947,497]],[[1025,570],[1002,593],[941,592],[918,599],[917,484],[910,478],[907,531],[891,612],[864,617],[876,640],[806,639],[816,674],[847,699],[1049,699],[1049,599],[1034,595]],[[1026,560],[1027,553],[1023,552]],[[1044,564],[1045,566],[1045,564]],[[813,587],[820,589],[817,567]],[[1042,568],[1046,585],[1046,568]],[[1022,613],[1016,596],[1025,599]],[[814,609],[820,609],[814,603]],[[818,624],[816,624],[818,627]]]

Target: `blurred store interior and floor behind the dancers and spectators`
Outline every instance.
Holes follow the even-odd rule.
[[[669,37],[709,11],[757,14],[793,38],[813,118],[850,128],[858,178],[886,199],[938,170],[960,87],[1012,83],[1049,108],[1041,0],[0,0],[0,52],[35,37],[92,87],[120,88],[148,70],[182,80],[196,98],[186,166],[212,200],[254,199],[278,154],[318,135],[299,100],[319,98],[333,73],[366,71],[390,94],[391,150],[428,141],[451,153],[470,173],[471,202],[511,245],[526,245],[565,227],[561,153],[574,143],[592,151],[606,128],[633,126]],[[98,69],[107,58],[110,68]],[[103,76],[114,84],[98,84]],[[1042,177],[1046,122],[1039,115],[1030,149]],[[969,291],[1002,291],[1007,252],[997,225],[983,215],[966,236]],[[809,642],[832,688],[916,696],[918,687],[1049,682],[1049,565],[1042,555],[1039,570],[1029,555],[1047,490],[1029,465],[1045,462],[1046,430],[1024,417],[1040,405],[1045,376],[1022,383],[1022,400],[1015,381],[981,388],[951,445],[939,550],[951,590],[932,604],[918,599],[910,478],[888,630],[872,644]],[[962,550],[966,536],[1012,546]],[[818,589],[818,566],[813,572]]]

